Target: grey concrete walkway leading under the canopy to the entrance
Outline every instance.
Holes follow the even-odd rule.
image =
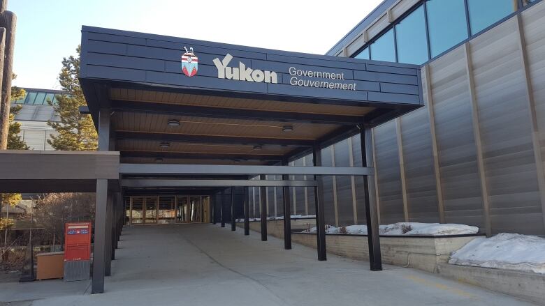
[[[212,224],[125,228],[106,293],[89,295],[86,282],[34,282],[35,290],[55,284],[58,294],[48,285],[43,299],[9,305],[531,305],[419,270],[370,272],[367,262],[331,254],[317,261],[314,249],[283,246]],[[27,284],[3,285],[0,300],[39,298],[24,298]],[[66,287],[76,285],[73,293]]]

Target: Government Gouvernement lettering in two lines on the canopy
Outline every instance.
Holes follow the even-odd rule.
[[[289,84],[293,86],[307,86],[307,87],[315,87],[315,88],[322,88],[322,89],[342,89],[347,91],[356,90],[356,83],[347,84],[342,82],[329,82],[329,81],[299,78],[299,77],[319,77],[321,79],[344,80],[344,72],[331,73],[331,72],[324,72],[324,71],[301,70],[295,67],[290,67],[289,75],[291,75],[291,79],[289,79]]]

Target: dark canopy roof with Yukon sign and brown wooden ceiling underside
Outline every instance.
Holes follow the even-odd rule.
[[[418,66],[90,26],[80,83],[124,163],[275,165],[423,105]]]

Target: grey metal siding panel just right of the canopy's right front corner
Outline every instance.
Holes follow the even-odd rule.
[[[465,55],[458,47],[430,63],[445,222],[483,226]]]

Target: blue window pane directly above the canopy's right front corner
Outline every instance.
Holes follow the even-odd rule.
[[[424,6],[420,6],[395,25],[398,61],[420,65],[428,61],[428,39]]]

